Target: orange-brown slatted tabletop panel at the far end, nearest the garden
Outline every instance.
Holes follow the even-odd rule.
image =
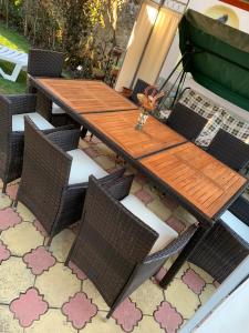
[[[35,84],[77,113],[136,109],[136,105],[102,81],[34,79]]]

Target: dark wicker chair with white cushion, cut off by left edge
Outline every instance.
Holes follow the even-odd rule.
[[[35,112],[35,109],[37,97],[34,94],[0,94],[0,178],[3,182],[3,193],[6,193],[7,184],[21,175],[24,115],[29,114],[45,132],[60,130]]]

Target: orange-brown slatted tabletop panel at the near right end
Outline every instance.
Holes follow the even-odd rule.
[[[247,182],[243,176],[190,142],[139,162],[210,219]]]

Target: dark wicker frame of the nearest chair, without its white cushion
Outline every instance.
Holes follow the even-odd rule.
[[[120,202],[127,198],[131,183],[122,178],[106,186],[90,178],[81,229],[65,263],[72,261],[94,283],[111,307],[107,317],[170,255],[183,250],[196,230],[191,225],[149,254],[158,233]]]

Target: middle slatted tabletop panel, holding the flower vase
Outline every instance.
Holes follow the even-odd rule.
[[[108,140],[115,142],[132,158],[138,159],[147,154],[186,142],[177,132],[148,117],[142,131],[135,130],[139,111],[91,113],[82,118]]]

